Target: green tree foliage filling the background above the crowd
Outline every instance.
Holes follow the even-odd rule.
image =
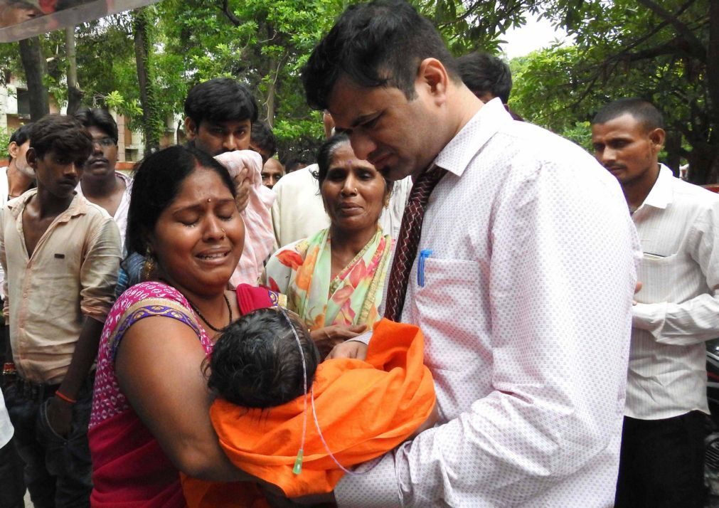
[[[587,147],[588,123],[607,101],[644,96],[663,109],[667,160],[692,165],[697,183],[719,174],[719,1],[412,0],[456,55],[498,51],[502,35],[541,14],[564,27],[572,47],[512,62],[510,105],[532,122]],[[163,0],[147,7],[148,74],[155,128],[181,114],[193,84],[232,76],[249,86],[273,124],[284,157],[313,153],[321,118],[304,101],[300,70],[347,0]],[[77,27],[78,83],[88,106],[111,106],[142,124],[133,15]],[[67,100],[63,32],[40,37],[45,85]],[[0,45],[0,67],[23,77],[17,43]],[[9,74],[6,73],[6,76]],[[587,147],[588,148],[588,147]],[[311,157],[311,156],[310,156]]]

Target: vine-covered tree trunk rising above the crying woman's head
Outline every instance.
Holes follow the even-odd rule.
[[[142,132],[145,135],[145,153],[147,154],[160,148],[160,135],[157,132],[155,119],[157,104],[155,104],[155,94],[148,68],[150,41],[147,38],[147,10],[145,8],[137,9],[133,13],[132,32],[139,82],[139,101],[142,106]]]

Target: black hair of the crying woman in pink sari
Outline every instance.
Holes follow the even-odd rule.
[[[137,164],[127,212],[128,253],[144,255],[147,252],[147,237],[155,229],[157,219],[175,200],[185,178],[197,168],[217,173],[232,196],[236,196],[234,183],[224,165],[196,148],[171,146],[147,155]]]

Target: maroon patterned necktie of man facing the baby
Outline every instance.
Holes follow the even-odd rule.
[[[419,237],[422,234],[424,207],[434,186],[445,173],[446,170],[433,165],[417,178],[409,194],[400,232],[397,235],[395,258],[392,262],[392,271],[387,286],[387,300],[385,301],[385,317],[395,322],[399,322],[402,317],[409,273],[412,270],[414,258],[417,256]]]

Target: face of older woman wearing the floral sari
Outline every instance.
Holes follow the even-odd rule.
[[[358,159],[349,142],[334,150],[321,186],[332,227],[357,232],[374,230],[388,197],[386,190],[383,176],[367,160]]]

